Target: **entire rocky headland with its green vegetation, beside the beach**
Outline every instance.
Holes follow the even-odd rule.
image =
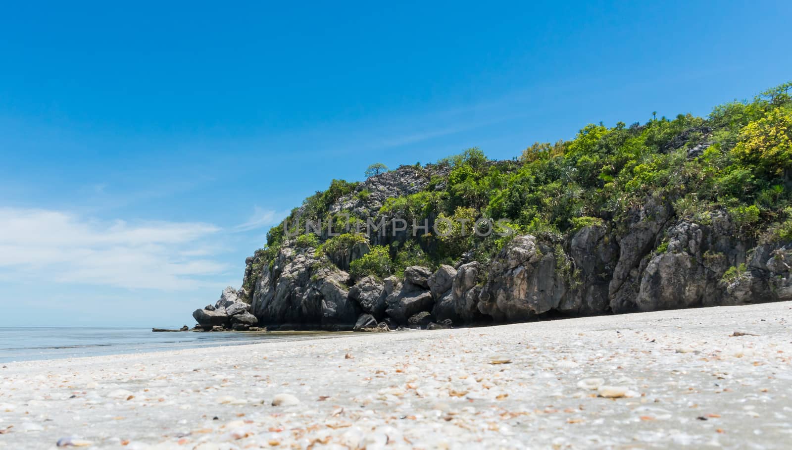
[[[391,330],[790,300],[792,101],[768,92],[707,119],[589,125],[519,160],[473,149],[334,180],[270,231],[242,288],[193,316]],[[499,218],[512,234],[477,235]],[[420,226],[438,219],[462,225]]]

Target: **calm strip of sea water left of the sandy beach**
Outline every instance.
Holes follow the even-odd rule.
[[[3,328],[0,327],[0,362],[96,357],[118,353],[194,349],[261,341],[295,341],[334,337],[322,332],[153,333],[150,328]]]

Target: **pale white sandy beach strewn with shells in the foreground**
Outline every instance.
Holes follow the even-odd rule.
[[[769,303],[5,364],[0,448],[790,448],[790,316]],[[272,406],[281,394],[299,404]]]

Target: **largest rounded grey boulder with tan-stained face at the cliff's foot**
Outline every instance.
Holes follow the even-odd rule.
[[[554,248],[517,236],[493,259],[478,309],[497,322],[524,322],[557,308],[565,293]]]

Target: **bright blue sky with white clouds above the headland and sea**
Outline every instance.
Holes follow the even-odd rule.
[[[792,79],[789,2],[376,3],[6,5],[0,326],[192,325],[371,162],[511,158]]]

